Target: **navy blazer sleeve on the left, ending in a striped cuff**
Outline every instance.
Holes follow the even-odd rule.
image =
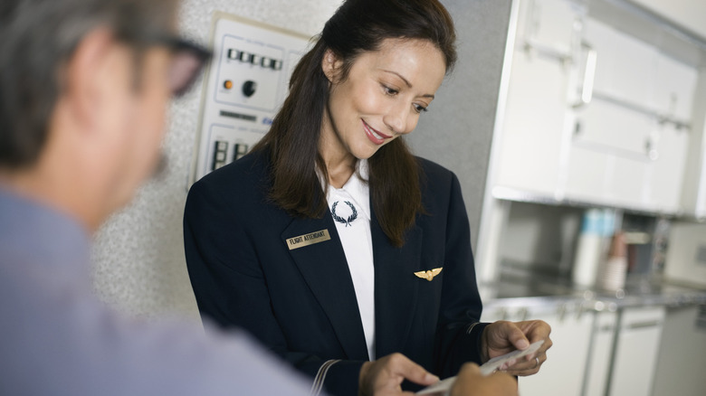
[[[217,184],[203,179],[194,184],[184,212],[186,267],[202,318],[249,329],[272,352],[314,379],[312,394],[321,385],[333,395],[357,394],[364,362],[331,361],[288,349],[272,313],[252,236],[244,229],[243,219],[238,219],[253,213],[234,210],[238,204],[232,193],[237,193],[224,193]]]

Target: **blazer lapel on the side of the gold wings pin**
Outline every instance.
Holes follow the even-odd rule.
[[[403,349],[414,318],[419,268],[422,254],[421,228],[414,226],[405,234],[405,245],[396,248],[371,211],[370,230],[375,259],[375,321],[377,357]]]

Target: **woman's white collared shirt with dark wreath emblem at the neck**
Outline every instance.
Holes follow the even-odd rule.
[[[358,160],[358,172],[341,188],[329,184],[326,199],[346,253],[350,278],[366,337],[367,355],[375,360],[375,266],[370,234],[370,190],[367,160]]]

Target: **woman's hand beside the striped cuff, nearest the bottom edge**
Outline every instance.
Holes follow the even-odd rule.
[[[405,380],[428,386],[438,382],[439,377],[427,372],[404,354],[388,354],[376,361],[363,363],[358,380],[358,395],[414,394],[402,391],[400,385]]]

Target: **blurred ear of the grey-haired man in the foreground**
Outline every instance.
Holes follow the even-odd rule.
[[[81,39],[62,70],[59,96],[68,100],[74,121],[88,126],[88,130],[100,122],[97,110],[105,104],[106,95],[110,95],[106,67],[114,61],[110,52],[116,44],[109,29],[96,29]]]

